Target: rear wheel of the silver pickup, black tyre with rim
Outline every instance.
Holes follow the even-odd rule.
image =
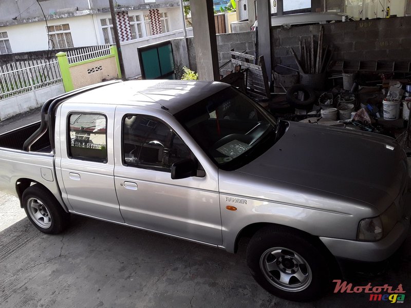
[[[23,192],[22,203],[30,222],[43,233],[59,234],[70,223],[70,214],[43,186],[28,187]]]

